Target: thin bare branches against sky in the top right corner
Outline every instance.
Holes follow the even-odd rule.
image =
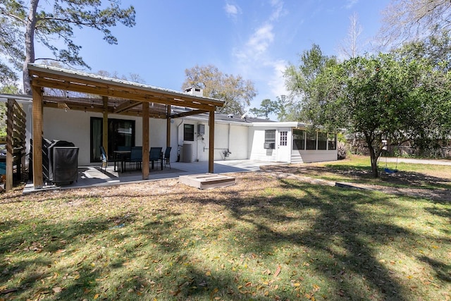
[[[451,26],[449,0],[392,0],[383,11],[385,44],[421,39]]]

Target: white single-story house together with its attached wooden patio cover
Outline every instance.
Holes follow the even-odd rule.
[[[49,66],[30,65],[30,70],[33,96],[0,94],[0,101],[16,99],[26,113],[27,154],[30,138],[39,137],[32,133],[38,128],[47,140],[68,141],[78,147],[79,166],[99,164],[99,146],[106,143],[109,154],[120,146],[171,146],[171,161],[184,162],[210,162],[211,156],[214,160],[253,159],[288,164],[337,159],[335,134],[311,133],[307,125],[298,122],[216,113],[216,106],[222,104],[202,97],[197,88],[176,92]],[[46,96],[43,87],[56,87],[60,94]],[[69,89],[61,94],[61,87]],[[100,97],[80,97],[80,92],[98,90]],[[135,98],[128,100],[123,96],[128,94]],[[39,106],[34,103],[36,97]],[[179,102],[190,106],[178,106]],[[148,129],[147,118],[143,118],[144,104],[150,111]],[[39,121],[33,122],[33,116]],[[214,133],[210,133],[211,125]],[[149,137],[143,135],[147,131]]]

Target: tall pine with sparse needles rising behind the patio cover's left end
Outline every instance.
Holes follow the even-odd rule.
[[[27,3],[20,0],[1,1],[0,51],[8,57],[10,63],[13,63],[13,67],[19,68],[19,62],[23,63],[25,93],[31,93],[28,63],[48,59],[61,61],[68,66],[89,68],[80,56],[81,47],[73,41],[74,27],[99,30],[106,42],[117,44],[117,39],[109,28],[118,23],[128,27],[135,25],[133,6],[123,9],[118,6],[117,1],[108,2],[109,6],[102,6],[101,0],[54,0],[39,6],[39,0],[30,0]],[[54,44],[56,39],[62,42],[66,49],[59,49]],[[37,58],[35,42],[50,49],[54,57]],[[4,67],[6,64],[3,63],[1,66]],[[10,68],[8,70],[11,72]]]

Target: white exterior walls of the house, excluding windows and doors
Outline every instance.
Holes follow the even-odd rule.
[[[31,106],[30,106],[31,108]],[[31,109],[27,108],[27,116],[31,116]],[[83,111],[64,111],[62,109],[44,108],[44,138],[49,140],[66,140],[79,147],[78,164],[80,166],[96,165],[90,162],[90,118],[101,118],[101,113]],[[109,115],[117,118],[135,121],[135,145],[142,145],[142,118],[140,116]],[[30,122],[29,122],[30,121]],[[31,118],[27,118],[27,126]],[[194,141],[183,141],[183,124],[194,125]],[[198,135],[197,125],[205,125],[205,134]],[[264,149],[265,130],[276,129],[276,149]],[[280,132],[288,132],[288,145],[280,146]],[[27,131],[27,136],[31,135]],[[28,138],[29,142],[29,138]],[[171,161],[183,159],[183,145],[192,145],[190,161],[208,161],[209,159],[209,126],[208,121],[194,118],[176,118],[171,120]],[[180,147],[179,147],[180,146]],[[166,148],[166,119],[149,119],[149,147]],[[225,157],[223,152],[229,150]],[[214,160],[252,159],[261,161],[283,161],[287,163],[309,163],[314,161],[335,161],[337,150],[292,150],[292,128],[287,125],[277,126],[248,126],[233,123],[215,123]]]

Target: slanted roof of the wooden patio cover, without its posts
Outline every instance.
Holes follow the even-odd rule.
[[[150,116],[168,118],[166,106],[183,106],[193,113],[215,111],[220,99],[201,97],[137,82],[37,63],[28,64],[33,87],[44,87],[44,106],[84,111],[105,111],[122,115],[142,113],[149,106]],[[106,100],[106,104],[105,104]]]

